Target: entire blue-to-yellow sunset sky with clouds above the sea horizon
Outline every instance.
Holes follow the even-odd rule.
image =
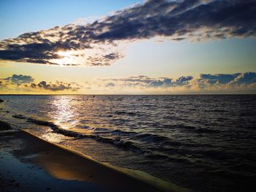
[[[256,93],[255,0],[0,1],[0,93]]]

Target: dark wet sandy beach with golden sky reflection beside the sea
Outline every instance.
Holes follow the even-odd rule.
[[[102,164],[0,121],[1,191],[189,191],[156,177]]]

